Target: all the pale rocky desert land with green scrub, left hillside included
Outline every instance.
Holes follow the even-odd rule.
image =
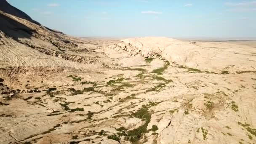
[[[256,144],[256,42],[76,38],[16,13],[0,144]]]

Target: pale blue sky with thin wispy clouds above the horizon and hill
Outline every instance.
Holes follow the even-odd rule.
[[[256,0],[8,0],[76,37],[256,37]]]

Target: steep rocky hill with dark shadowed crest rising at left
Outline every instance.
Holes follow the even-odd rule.
[[[90,58],[74,54],[88,51],[81,45],[84,43],[40,25],[24,12],[1,0],[0,65],[81,68],[72,62],[92,63]],[[40,59],[45,61],[38,61]]]

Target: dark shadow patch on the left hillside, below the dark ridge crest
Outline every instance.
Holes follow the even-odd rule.
[[[14,40],[18,38],[30,38],[34,30],[25,26],[24,24],[15,21],[8,16],[0,13],[0,31],[4,32],[5,35],[12,37]]]

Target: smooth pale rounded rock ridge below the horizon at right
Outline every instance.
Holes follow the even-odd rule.
[[[242,48],[239,45],[226,44],[222,45],[223,48],[217,48],[219,43],[205,44],[200,46],[200,42],[180,41],[166,37],[141,37],[120,40],[109,48],[117,51],[122,49],[131,55],[140,54],[145,58],[161,56],[180,66],[211,72],[221,72],[227,67],[232,72],[254,70],[251,65],[256,65],[256,58],[253,55],[256,53],[255,49],[248,52],[246,49],[250,47],[245,49],[244,46]],[[234,57],[240,61],[234,60]]]

